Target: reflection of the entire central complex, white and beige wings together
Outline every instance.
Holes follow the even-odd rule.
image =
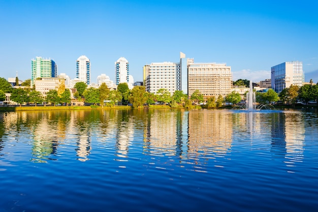
[[[229,153],[232,142],[232,120],[229,113],[211,110],[156,110],[149,117],[144,151],[152,156],[179,156],[180,163],[192,159],[195,169],[207,158],[215,166]],[[188,163],[188,162],[187,162]]]

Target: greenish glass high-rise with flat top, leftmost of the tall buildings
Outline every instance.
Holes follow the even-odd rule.
[[[57,66],[53,59],[44,59],[37,56],[31,60],[31,86],[34,85],[37,78],[56,76]]]

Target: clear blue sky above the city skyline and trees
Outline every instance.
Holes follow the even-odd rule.
[[[9,1],[0,0],[0,77],[30,78],[31,59],[52,58],[58,74],[76,76],[91,62],[92,82],[114,80],[121,56],[142,80],[152,62],[227,63],[233,80],[270,78],[270,68],[303,62],[318,81],[318,1]],[[310,78],[309,78],[310,77]]]

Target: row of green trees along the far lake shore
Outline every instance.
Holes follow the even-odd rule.
[[[238,80],[235,84],[246,86],[249,84],[248,80]],[[86,102],[92,105],[100,106],[114,106],[119,105],[131,105],[132,107],[141,107],[143,105],[151,105],[160,103],[163,105],[170,105],[171,107],[186,107],[192,108],[194,105],[198,105],[204,102],[204,97],[199,90],[188,98],[182,90],[176,90],[173,94],[166,88],[158,89],[156,94],[148,93],[144,86],[134,86],[129,89],[127,83],[120,83],[117,85],[117,89],[113,90],[108,88],[106,83],[102,83],[99,88],[89,87],[84,82],[77,82],[74,86],[76,93],[74,98],[78,101]],[[42,96],[35,88],[12,88],[11,84],[4,78],[0,78],[0,101],[6,99],[5,93],[11,93],[10,99],[20,104],[33,103],[42,104],[47,102],[52,105],[71,103],[71,93],[69,89],[65,89],[61,94],[58,94],[56,90],[49,90],[45,97]],[[246,97],[246,93],[245,93]],[[224,102],[230,102],[237,104],[241,101],[239,93],[233,91],[225,98],[219,95],[217,98],[210,97],[206,100],[204,107],[207,108],[220,108]],[[301,99],[308,103],[310,100],[318,99],[318,85],[317,84],[305,84],[301,87],[297,85],[291,85],[289,88],[284,88],[281,93],[277,94],[273,89],[269,88],[267,92],[256,92],[256,101],[259,103],[269,103],[281,100],[283,103],[295,104],[297,99]]]

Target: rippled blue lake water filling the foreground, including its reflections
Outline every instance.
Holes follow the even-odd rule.
[[[318,211],[308,111],[0,113],[3,211]]]

